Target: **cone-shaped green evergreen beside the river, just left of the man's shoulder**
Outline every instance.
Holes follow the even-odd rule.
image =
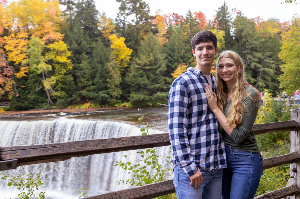
[[[166,60],[160,42],[152,33],[148,33],[141,42],[138,56],[128,73],[127,81],[131,87],[129,100],[132,102],[167,100],[170,74],[166,74],[166,71]]]

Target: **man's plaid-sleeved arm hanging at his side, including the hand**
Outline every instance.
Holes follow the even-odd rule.
[[[179,81],[174,82],[171,85],[168,97],[169,138],[176,161],[180,168],[190,177],[197,173],[198,168],[194,162],[195,154],[191,153],[190,143],[187,138],[186,111],[188,102],[189,98],[187,97],[184,86]],[[200,177],[197,177],[197,179],[198,178],[199,181],[201,181]]]

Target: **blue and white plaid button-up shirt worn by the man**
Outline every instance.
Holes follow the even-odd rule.
[[[210,75],[216,93],[216,79]],[[202,71],[188,68],[171,84],[168,96],[173,168],[179,165],[188,176],[196,173],[197,167],[205,171],[226,168],[225,146],[207,104],[206,84]]]

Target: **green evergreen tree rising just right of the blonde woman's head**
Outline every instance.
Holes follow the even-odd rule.
[[[234,26],[234,50],[244,60],[247,81],[256,88],[269,89],[274,85],[269,82],[274,80],[277,74],[273,56],[274,49],[272,49],[274,40],[271,37],[260,37],[255,22],[247,17],[238,16],[234,21]]]

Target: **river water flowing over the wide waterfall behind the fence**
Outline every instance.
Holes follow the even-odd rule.
[[[41,114],[19,114],[0,117],[0,146],[59,143],[76,140],[103,139],[141,135],[138,118],[144,114],[150,125],[150,134],[167,132],[167,107],[121,108],[88,112],[59,112]],[[155,148],[159,163],[166,170],[171,167],[170,146]],[[115,190],[128,189],[129,184],[119,180],[132,178],[132,174],[119,166],[116,161],[138,163],[137,151],[122,151],[73,157],[62,162],[19,166],[8,170],[10,174],[26,171],[41,173],[46,185],[46,198],[79,198],[78,190],[87,187],[87,195],[98,195]],[[125,157],[126,156],[126,157]],[[167,179],[170,179],[167,173]],[[16,187],[8,187],[7,180],[0,180],[0,199],[17,198]]]

